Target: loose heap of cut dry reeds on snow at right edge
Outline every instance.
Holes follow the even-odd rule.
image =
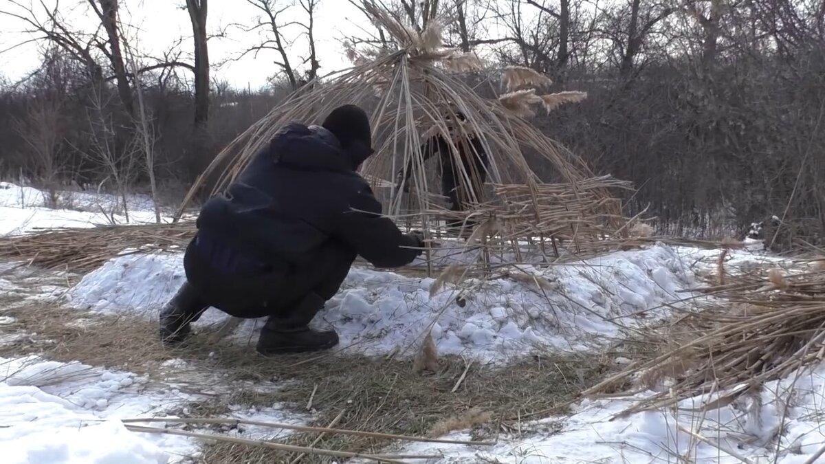
[[[640,382],[640,388],[672,385],[625,410],[669,407],[679,400],[710,392],[703,405],[712,410],[740,395],[823,361],[825,358],[825,269],[790,275],[763,267],[728,276],[724,285],[699,291],[713,299],[697,311],[652,330],[645,342],[653,348],[647,362],[584,391],[599,395]],[[705,299],[708,300],[708,299]],[[660,354],[661,353],[661,354]]]

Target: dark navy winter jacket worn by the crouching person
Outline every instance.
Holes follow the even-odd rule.
[[[344,150],[320,126],[285,125],[224,195],[206,202],[199,236],[238,251],[224,259],[230,268],[248,268],[249,258],[312,265],[330,240],[379,268],[412,262],[421,241],[380,215],[379,201],[355,171],[368,150]]]

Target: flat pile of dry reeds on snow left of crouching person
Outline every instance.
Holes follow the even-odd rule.
[[[194,234],[193,222],[43,230],[0,237],[0,258],[89,272],[125,253],[181,251]]]

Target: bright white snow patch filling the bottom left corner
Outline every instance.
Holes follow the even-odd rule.
[[[3,462],[161,463],[197,450],[186,438],[125,428],[120,419],[191,400],[148,389],[130,372],[30,356],[0,358],[0,379]]]

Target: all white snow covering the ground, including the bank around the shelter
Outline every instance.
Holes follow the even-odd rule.
[[[4,192],[11,193],[6,196]],[[15,195],[25,197],[26,192],[29,191],[19,187],[0,187],[4,229],[0,233],[31,230],[31,222],[21,225],[21,219],[32,215],[36,216],[35,224],[51,227],[93,225],[103,218],[102,214],[95,216],[88,211],[47,210],[36,206],[35,200],[26,200],[25,205],[10,200]],[[29,196],[36,197],[36,192]],[[4,206],[4,199],[9,199],[9,206]],[[138,209],[135,206],[135,211]],[[78,216],[73,217],[75,214]],[[81,219],[84,214],[85,219]],[[134,214],[152,215],[148,211]],[[481,361],[507,362],[533,348],[585,352],[613,343],[671,314],[674,307],[680,307],[680,299],[690,296],[683,291],[700,285],[697,273],[714,272],[718,256],[716,250],[657,244],[592,258],[585,263],[522,266],[513,272],[538,280],[502,277],[491,282],[464,282],[460,287],[448,284],[433,296],[433,279],[355,268],[342,291],[329,302],[322,319],[341,334],[347,352],[370,355],[412,355],[429,327],[440,354],[460,354]],[[726,266],[733,269],[764,260],[778,261],[761,253],[738,251],[731,253]],[[20,296],[10,305],[59,298],[68,305],[89,310],[89,320],[111,314],[136,314],[153,320],[158,307],[177,290],[183,276],[180,255],[151,254],[115,258],[71,288],[64,283],[68,277],[53,276],[35,285],[37,278],[31,269],[0,267],[0,287],[7,296]],[[459,305],[457,296],[466,304]],[[0,346],[22,343],[36,335],[15,329],[16,321],[2,314],[9,307],[0,306]],[[202,328],[224,320],[219,311],[210,310],[197,325]],[[229,341],[254,343],[256,325],[255,321],[242,324]],[[624,361],[617,358],[615,362]],[[171,359],[161,367],[168,367],[168,372],[150,378],[126,367],[103,369],[35,355],[0,358],[3,462],[129,464],[179,462],[197,457],[200,443],[172,435],[134,433],[120,422],[135,417],[186,414],[183,409],[192,402],[208,402],[242,387],[222,381],[222,373],[216,368],[190,364],[187,360]],[[177,376],[172,372],[177,372]],[[270,382],[255,387],[284,385]],[[825,419],[819,412],[825,400],[823,394],[825,368],[816,368],[765,386],[759,401],[734,403],[705,414],[689,411],[709,400],[695,398],[684,401],[678,411],[653,411],[610,420],[630,405],[629,399],[584,400],[573,405],[571,414],[566,416],[519,424],[517,433],[498,437],[492,447],[413,443],[391,451],[444,456],[430,462],[747,459],[754,463],[802,463],[808,462],[825,443],[819,426]],[[287,413],[277,404],[259,410],[232,409],[228,417],[293,424],[312,420],[309,413]],[[695,438],[697,434],[709,443]],[[243,436],[272,438],[271,431],[255,428],[245,430]],[[457,432],[447,438],[469,439],[469,433]]]

